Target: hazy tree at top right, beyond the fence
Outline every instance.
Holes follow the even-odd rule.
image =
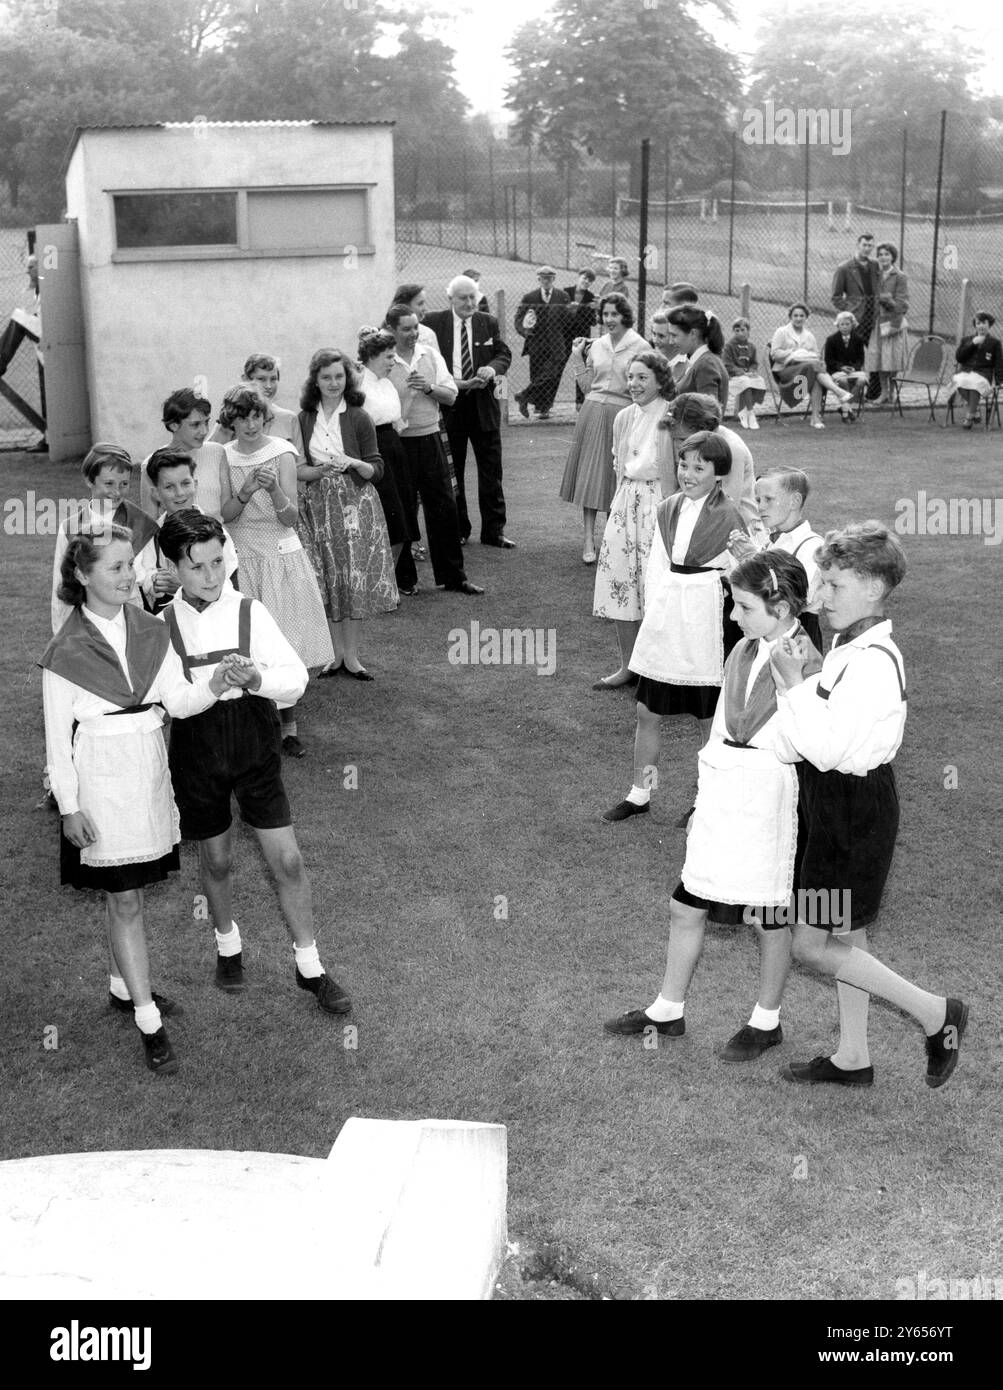
[[[839,110],[850,115],[850,153],[827,160],[825,178],[859,199],[896,197],[902,131],[909,131],[911,182],[936,177],[939,113],[975,145],[985,115],[970,86],[971,63],[956,42],[952,15],[917,10],[892,22],[871,0],[786,0],[757,36],[746,108]],[[749,156],[763,182],[797,181],[799,152],[774,147]],[[752,174],[747,177],[753,177]],[[820,175],[821,177],[821,175]]]

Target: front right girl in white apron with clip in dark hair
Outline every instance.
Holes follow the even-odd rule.
[[[790,967],[790,894],[796,883],[797,774],[777,719],[770,669],[784,638],[809,644],[814,670],[821,655],[797,623],[809,594],[804,567],[784,550],[752,556],[732,571],[733,617],[746,639],[725,664],[724,694],[711,735],[699,753],[700,781],[686,838],[682,880],[670,902],[668,959],[661,992],[646,1009],[606,1023],[618,1036],[653,1029],[685,1031],[686,990],[703,945],[707,917],[746,922],[760,942],[760,991],[749,1023],[718,1051],[746,1062],[784,1041],[779,1006]],[[779,910],[778,910],[779,909]]]

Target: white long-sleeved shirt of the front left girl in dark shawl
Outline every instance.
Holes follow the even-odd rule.
[[[119,610],[113,619],[104,619],[85,607],[83,614],[108,642],[118,657],[122,673],[132,685],[125,660],[125,616],[122,612]],[[168,648],[144,702],[163,703],[175,719],[189,719],[192,714],[201,714],[214,701],[215,695],[210,691],[208,684],[192,685],[185,680],[185,671],[176,652],[174,648]],[[78,724],[96,721],[100,731],[110,737],[114,735],[115,728],[125,730],[126,726],[117,723],[121,719],[128,720],[132,733],[161,728],[164,723],[164,714],[160,709],[147,709],[140,714],[118,714],[115,719],[106,720],[103,716],[119,709],[118,705],[85,691],[82,685],[75,685],[65,677],[57,676],[56,671],[42,673],[42,703],[46,719],[49,785],[63,816],[72,816],[81,809],[79,783],[74,766],[74,720]],[[114,758],[111,748],[108,755],[110,759]],[[124,773],[128,773],[128,769],[124,769]]]

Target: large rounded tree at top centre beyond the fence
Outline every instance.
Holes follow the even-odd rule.
[[[728,0],[710,0],[731,18]],[[711,183],[728,158],[727,118],[739,97],[733,58],[688,0],[625,10],[558,0],[522,25],[507,50],[513,138],[538,142],[561,165],[582,154],[633,161],[645,136],[685,181]]]

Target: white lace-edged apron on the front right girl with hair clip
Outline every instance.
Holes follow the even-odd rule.
[[[775,719],[775,716],[774,716]],[[711,902],[778,908],[790,901],[797,851],[797,773],[772,752],[768,720],[756,748],[711,738],[697,756],[683,887]]]

